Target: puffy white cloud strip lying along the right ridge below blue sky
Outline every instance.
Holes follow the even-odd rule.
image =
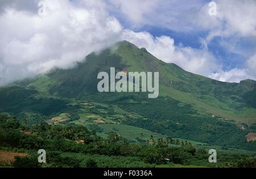
[[[256,79],[256,54],[247,59],[243,68],[222,70],[222,65],[211,54],[202,41],[200,49],[175,45],[174,39],[168,36],[154,37],[148,32],[134,32],[125,29],[122,40],[127,40],[139,48],[146,48],[156,58],[167,63],[175,63],[184,70],[207,76],[222,82],[240,82],[245,79]]]

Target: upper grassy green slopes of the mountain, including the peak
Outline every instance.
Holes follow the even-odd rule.
[[[254,80],[241,83],[224,83],[184,71],[175,64],[168,64],[152,56],[145,49],[127,41],[119,42],[117,49],[107,49],[69,70],[54,70],[47,76],[32,82],[28,87],[59,95],[78,97],[97,91],[97,74],[115,67],[117,71],[159,71],[160,96],[191,104],[192,108],[206,116],[246,123],[256,122]],[[253,96],[254,95],[254,96]]]

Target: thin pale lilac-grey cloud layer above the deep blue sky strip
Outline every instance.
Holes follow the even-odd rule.
[[[109,0],[132,25],[153,25],[174,31],[209,31],[209,36],[256,36],[256,1],[216,0],[217,15],[209,15],[205,0]]]

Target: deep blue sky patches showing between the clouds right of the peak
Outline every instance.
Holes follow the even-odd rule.
[[[184,5],[185,1],[179,1],[175,4],[179,7],[177,10],[177,16],[179,14],[187,13],[187,11],[193,8],[202,8],[211,1],[191,1],[189,5]],[[172,11],[172,7],[166,7],[166,10]],[[161,11],[158,11],[162,13]],[[130,28],[132,23],[129,20],[125,19],[122,15],[115,14],[118,17],[119,21],[125,28]],[[181,18],[182,20],[182,18]],[[189,24],[188,24],[189,25]],[[153,36],[170,36],[175,41],[175,45],[183,44],[184,46],[190,46],[192,48],[199,49],[201,48],[201,39],[205,39],[210,33],[209,29],[196,29],[196,31],[179,31],[179,29],[171,29],[170,27],[159,26],[158,24],[144,24],[141,27],[133,28],[135,32],[146,31],[151,33]],[[220,45],[220,41],[226,41],[232,44],[232,39],[236,39],[236,49],[234,51],[229,51],[226,49],[226,46]],[[223,65],[223,70],[231,70],[234,68],[244,67],[246,59],[250,56],[253,56],[256,52],[256,43],[255,39],[250,38],[237,38],[237,37],[227,37],[221,38],[216,37],[208,44],[208,50],[210,53],[214,54],[218,62]]]

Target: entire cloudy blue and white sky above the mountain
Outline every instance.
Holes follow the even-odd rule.
[[[254,0],[1,0],[0,86],[120,40],[212,79],[256,79],[255,17]]]

